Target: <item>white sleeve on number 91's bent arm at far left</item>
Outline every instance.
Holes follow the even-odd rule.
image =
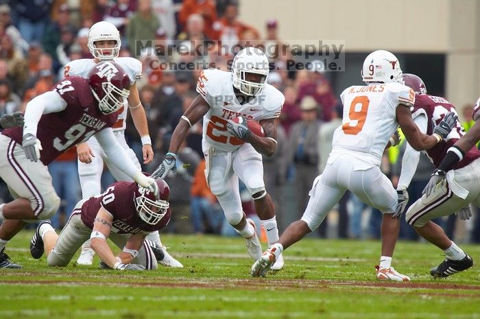
[[[25,124],[23,134],[34,134],[40,117],[44,114],[60,112],[67,108],[67,102],[56,91],[49,91],[38,95],[27,103],[25,108]]]

